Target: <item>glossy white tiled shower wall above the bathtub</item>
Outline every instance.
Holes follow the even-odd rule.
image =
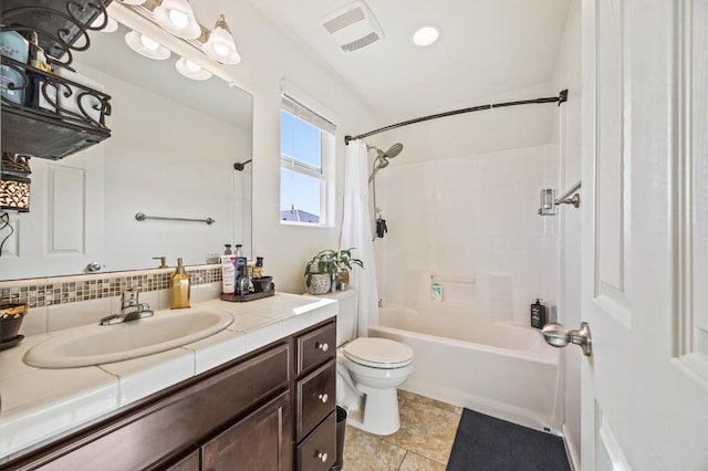
[[[541,145],[398,161],[381,172],[377,202],[388,233],[375,242],[379,297],[418,307],[409,305],[420,300],[409,281],[419,271],[473,281],[465,292],[448,283],[449,295],[440,281],[442,304],[499,321],[528,325],[537,297],[556,304],[559,219],[539,216],[538,206],[541,188],[558,188],[558,147]]]

